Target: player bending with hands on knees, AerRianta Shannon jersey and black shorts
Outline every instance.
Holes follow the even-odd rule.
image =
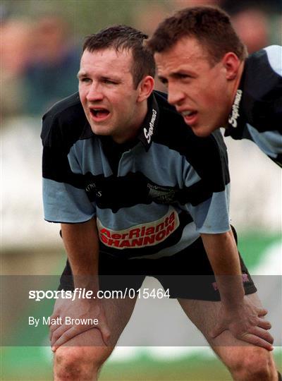
[[[44,216],[68,255],[60,289],[137,290],[154,276],[236,380],[276,380],[267,311],[229,224],[222,136],[197,137],[153,91],[146,38],[125,25],[87,37],[79,92],[43,117]],[[136,299],[61,298],[55,380],[97,380]]]

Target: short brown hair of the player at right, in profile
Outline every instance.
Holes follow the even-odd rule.
[[[228,52],[243,61],[247,48],[236,34],[230,17],[220,8],[196,6],[185,8],[162,21],[147,46],[154,54],[173,47],[183,37],[195,37],[207,49],[212,63]]]

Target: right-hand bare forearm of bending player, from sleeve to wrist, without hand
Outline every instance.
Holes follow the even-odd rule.
[[[245,294],[238,249],[232,231],[223,234],[202,234],[204,248],[212,265],[221,301],[235,305]]]

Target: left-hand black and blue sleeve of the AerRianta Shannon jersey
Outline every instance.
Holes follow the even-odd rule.
[[[44,219],[75,224],[94,217],[96,206],[87,197],[78,160],[71,157],[74,142],[64,124],[49,114],[42,121]]]

